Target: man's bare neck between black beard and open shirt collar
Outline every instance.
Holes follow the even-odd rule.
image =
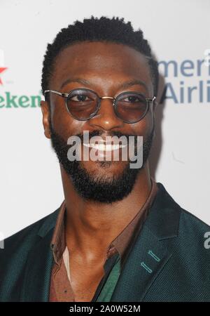
[[[101,256],[146,202],[151,192],[148,162],[139,171],[130,195],[113,204],[84,200],[61,165],[60,169],[66,204],[66,244],[83,256],[94,256],[94,252]]]

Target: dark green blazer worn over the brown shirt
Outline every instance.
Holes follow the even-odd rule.
[[[113,302],[210,301],[209,225],[174,202],[158,183],[144,227],[130,249]],[[59,209],[5,239],[0,301],[48,301],[50,241]]]

